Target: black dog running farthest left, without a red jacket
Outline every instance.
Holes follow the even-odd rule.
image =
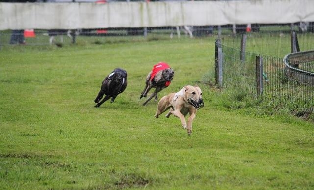
[[[94,100],[94,102],[97,103],[95,107],[100,107],[100,105],[109,98],[111,98],[110,102],[113,103],[118,94],[126,89],[127,84],[127,71],[121,68],[115,68],[102,82],[100,91]],[[104,94],[106,95],[105,98],[100,101]]]

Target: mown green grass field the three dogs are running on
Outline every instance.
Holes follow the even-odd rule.
[[[220,93],[202,82],[213,77],[214,41],[0,50],[0,190],[313,190],[313,123],[221,106]],[[203,90],[191,136],[178,118],[154,118],[157,102],[141,105],[159,61],[175,70],[159,98],[188,84]],[[95,108],[115,67],[128,71],[128,87]]]

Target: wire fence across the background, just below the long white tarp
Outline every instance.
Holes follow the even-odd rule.
[[[258,52],[269,56],[283,57],[290,52],[289,32],[291,29],[300,31],[299,44],[301,51],[311,48],[304,43],[307,36],[314,32],[314,23],[295,23],[282,25],[224,25],[224,26],[180,26],[180,27],[139,27],[139,28],[94,28],[94,29],[30,29],[0,31],[0,46],[12,44],[26,45],[67,45],[75,43],[103,43],[106,37],[117,38],[180,38],[180,37],[222,37],[224,44],[240,48],[241,34],[248,34],[247,51]],[[254,35],[251,37],[251,35]],[[232,37],[231,37],[232,36]],[[266,37],[268,36],[268,37]],[[20,38],[20,39],[19,39]],[[262,41],[260,40],[262,38]],[[19,39],[19,40],[17,40]],[[262,45],[256,46],[256,42]],[[276,48],[267,46],[275,44]],[[262,47],[262,49],[261,49]],[[312,46],[313,48],[313,46]]]

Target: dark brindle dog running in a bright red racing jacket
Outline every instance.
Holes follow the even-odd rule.
[[[165,62],[160,62],[154,65],[153,70],[148,73],[145,81],[145,88],[140,96],[140,99],[147,96],[147,93],[152,89],[156,88],[154,93],[147,98],[147,100],[143,103],[145,106],[148,101],[150,101],[155,96],[155,101],[158,100],[157,93],[162,89],[168,87],[173,79],[175,72],[173,69],[169,67],[169,65]]]

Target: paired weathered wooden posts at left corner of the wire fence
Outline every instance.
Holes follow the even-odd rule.
[[[222,48],[221,39],[216,39],[215,42],[215,84],[222,88]]]

